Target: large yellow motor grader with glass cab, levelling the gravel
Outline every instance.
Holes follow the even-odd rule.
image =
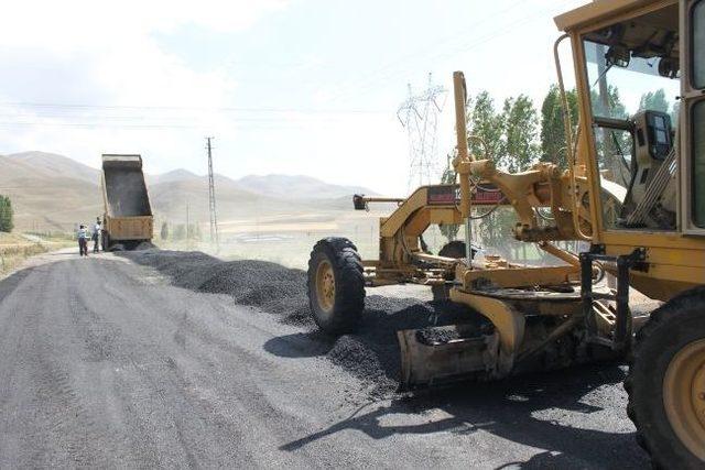
[[[456,184],[403,199],[356,196],[357,209],[398,207],[380,219],[378,260],[361,260],[347,239],[314,247],[314,320],[329,334],[354,330],[366,286],[402,283],[427,285],[487,320],[436,336],[399,331],[408,387],[625,358],[639,442],[657,466],[705,468],[705,0],[598,0],[555,23],[564,32],[553,52],[567,167],[508,174],[470,154],[465,78],[455,73]],[[567,106],[564,42],[578,122]],[[666,106],[649,99],[659,92]],[[487,204],[510,205],[514,238],[563,264],[477,256],[471,219]],[[430,253],[431,225],[465,226],[465,243]],[[564,240],[589,249],[574,254],[558,248]],[[616,288],[599,282],[604,272]],[[662,304],[637,315],[636,291]]]

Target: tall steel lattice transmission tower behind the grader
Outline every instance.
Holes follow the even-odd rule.
[[[436,152],[437,128],[447,90],[433,84],[429,74],[429,86],[415,94],[409,87],[409,98],[397,111],[399,121],[409,139],[409,190],[417,186],[438,183],[442,159]]]

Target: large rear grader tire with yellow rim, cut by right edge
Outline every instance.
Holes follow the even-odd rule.
[[[657,468],[705,468],[705,286],[651,314],[625,390],[637,440]]]

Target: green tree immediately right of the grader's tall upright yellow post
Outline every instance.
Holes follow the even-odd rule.
[[[468,136],[481,139],[487,144],[487,154],[482,144],[477,139],[468,140],[470,153],[478,159],[497,161],[502,145],[502,117],[495,109],[495,100],[488,91],[480,91],[468,106]]]

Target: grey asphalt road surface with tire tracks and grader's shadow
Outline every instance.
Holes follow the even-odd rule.
[[[643,468],[622,368],[372,401],[316,335],[109,254],[0,282],[0,468]]]

